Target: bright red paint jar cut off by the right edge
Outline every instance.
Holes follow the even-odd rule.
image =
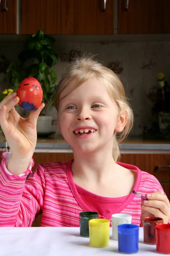
[[[170,224],[156,225],[156,251],[170,253]]]

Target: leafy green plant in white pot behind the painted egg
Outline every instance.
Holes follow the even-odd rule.
[[[31,35],[24,44],[24,49],[18,55],[20,65],[9,63],[6,70],[6,79],[10,81],[14,91],[23,79],[32,76],[36,78],[43,91],[45,108],[40,113],[37,121],[37,133],[49,133],[52,116],[47,116],[47,110],[54,106],[54,96],[57,90],[57,74],[53,70],[57,62],[57,52],[52,48],[55,39],[44,35],[40,29],[37,34]],[[42,123],[43,122],[43,123]]]

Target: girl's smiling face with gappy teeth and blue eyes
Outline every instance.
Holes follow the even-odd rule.
[[[66,88],[61,99],[67,93]],[[112,148],[114,132],[121,132],[124,123],[108,90],[96,78],[85,81],[59,103],[58,124],[62,136],[76,151]]]

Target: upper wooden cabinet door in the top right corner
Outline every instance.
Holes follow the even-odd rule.
[[[170,0],[118,0],[118,33],[170,33]]]

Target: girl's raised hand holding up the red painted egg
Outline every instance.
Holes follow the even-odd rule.
[[[0,126],[13,157],[30,157],[37,143],[37,118],[45,104],[32,111],[27,119],[21,117],[14,106],[19,102],[17,93],[12,93],[0,102]]]

